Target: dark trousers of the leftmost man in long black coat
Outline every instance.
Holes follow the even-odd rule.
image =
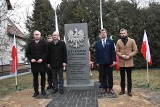
[[[45,82],[46,82],[46,78],[45,78],[45,72],[33,72],[33,87],[34,87],[34,91],[36,93],[38,93],[38,87],[39,87],[39,82],[38,82],[38,75],[41,75],[41,90],[45,90]]]

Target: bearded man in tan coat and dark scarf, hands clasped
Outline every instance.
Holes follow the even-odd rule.
[[[121,75],[121,92],[119,95],[125,94],[125,72],[127,73],[127,89],[128,95],[132,96],[132,68],[133,64],[133,56],[135,56],[138,52],[136,42],[134,39],[128,37],[128,32],[126,29],[120,30],[121,39],[117,41],[116,44],[116,54],[119,56],[119,67],[120,67],[120,75]]]

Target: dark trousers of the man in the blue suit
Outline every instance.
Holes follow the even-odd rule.
[[[104,89],[113,88],[113,67],[110,64],[100,64],[99,70],[101,72],[101,84]],[[108,83],[108,84],[107,84]]]

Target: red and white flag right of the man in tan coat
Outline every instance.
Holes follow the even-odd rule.
[[[150,65],[152,65],[152,58],[151,58],[151,54],[150,54],[150,48],[149,48],[149,44],[148,44],[148,38],[147,38],[146,31],[144,31],[141,53],[142,53],[143,57],[146,59],[146,61]]]

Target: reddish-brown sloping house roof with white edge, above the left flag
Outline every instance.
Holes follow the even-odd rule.
[[[20,31],[20,29],[11,21],[11,19],[7,19],[7,34],[8,35],[16,35],[16,37],[24,38],[24,34]]]

